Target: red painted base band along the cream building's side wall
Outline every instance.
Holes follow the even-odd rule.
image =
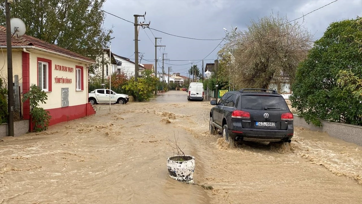
[[[96,113],[90,103],[47,110],[50,112],[51,115],[49,126],[55,125],[60,122],[72,121],[74,119],[83,118]]]

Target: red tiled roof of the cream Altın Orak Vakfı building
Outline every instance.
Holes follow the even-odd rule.
[[[70,57],[75,57],[80,60],[95,62],[94,60],[92,60],[88,57],[85,57],[81,54],[77,54],[77,53],[67,50],[65,48],[61,48],[57,45],[50,44],[48,42],[45,42],[43,40],[40,40],[40,39],[32,37],[32,36],[28,36],[28,35],[23,35],[21,37],[15,37],[15,36],[12,37],[11,45],[12,46],[34,46],[34,47],[46,49],[46,50],[49,50],[52,52],[65,54]],[[0,46],[6,46],[6,28],[4,26],[0,26]]]

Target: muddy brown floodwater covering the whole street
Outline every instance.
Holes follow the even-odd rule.
[[[0,203],[362,203],[362,148],[295,129],[290,146],[230,148],[209,135],[208,101],[170,91],[151,102],[0,142]],[[168,139],[196,158],[194,181],[168,177]]]

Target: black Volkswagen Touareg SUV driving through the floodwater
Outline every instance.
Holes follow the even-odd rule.
[[[291,142],[293,114],[276,90],[229,91],[210,111],[210,134],[222,132],[226,141]]]

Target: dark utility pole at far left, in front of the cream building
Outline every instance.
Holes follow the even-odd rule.
[[[13,57],[11,47],[10,3],[5,1],[6,49],[8,55],[8,136],[14,136],[14,88],[13,88]]]

